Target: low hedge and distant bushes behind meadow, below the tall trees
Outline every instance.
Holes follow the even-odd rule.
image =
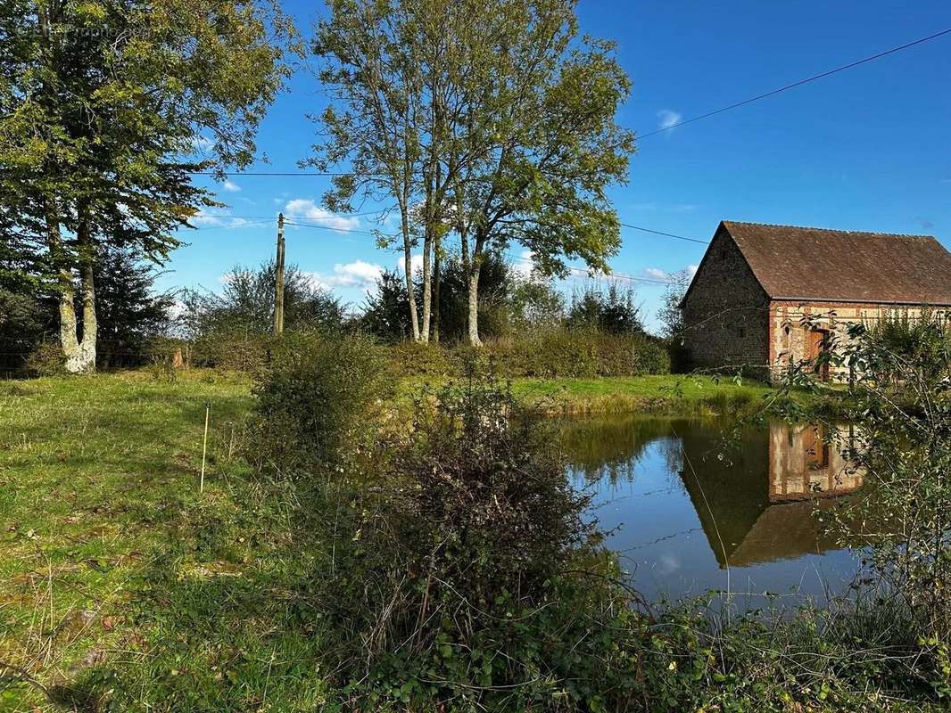
[[[184,364],[255,371],[279,348],[273,336],[275,267],[234,266],[219,292],[160,293],[157,273],[128,251],[97,260],[100,312],[97,366]],[[461,261],[442,261],[429,344],[412,342],[405,280],[384,271],[359,305],[346,305],[291,265],[284,275],[288,334],[361,334],[398,346],[405,374],[455,374],[473,349],[467,337],[468,285]],[[415,285],[421,291],[421,279]],[[421,300],[417,300],[417,303]],[[670,369],[667,344],[644,329],[633,291],[616,284],[579,285],[570,297],[549,279],[490,254],[482,266],[478,310],[482,354],[511,376],[632,376]],[[0,282],[3,366],[56,371],[58,300],[43,280]]]

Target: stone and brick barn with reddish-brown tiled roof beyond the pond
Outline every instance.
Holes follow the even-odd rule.
[[[951,253],[930,236],[724,221],[680,307],[694,368],[776,376],[851,322],[947,313]]]

